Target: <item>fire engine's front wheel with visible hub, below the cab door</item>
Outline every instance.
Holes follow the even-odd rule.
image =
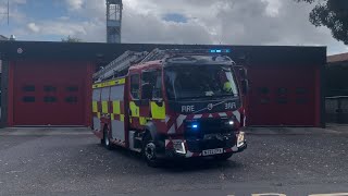
[[[156,151],[157,146],[150,134],[146,134],[142,139],[142,156],[149,167],[157,168],[160,166]]]

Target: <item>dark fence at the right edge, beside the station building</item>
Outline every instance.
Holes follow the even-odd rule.
[[[326,97],[326,123],[348,123],[348,96]]]

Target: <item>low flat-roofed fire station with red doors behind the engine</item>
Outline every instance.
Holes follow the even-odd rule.
[[[90,126],[92,74],[154,48],[231,49],[248,69],[247,125],[325,125],[325,47],[0,41],[1,126]]]

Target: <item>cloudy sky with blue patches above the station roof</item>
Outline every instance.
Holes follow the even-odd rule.
[[[0,13],[7,0],[0,0]],[[122,42],[327,46],[348,52],[326,27],[309,20],[313,5],[294,0],[123,0]],[[10,25],[0,34],[17,40],[80,38],[105,42],[104,0],[10,0]]]

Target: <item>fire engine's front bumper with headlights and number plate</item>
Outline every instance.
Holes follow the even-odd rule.
[[[203,139],[165,139],[165,157],[190,158],[209,157],[221,154],[237,154],[247,148],[244,132],[236,135],[222,135],[219,138]],[[219,149],[219,150],[217,150]],[[219,154],[206,154],[207,150]]]

